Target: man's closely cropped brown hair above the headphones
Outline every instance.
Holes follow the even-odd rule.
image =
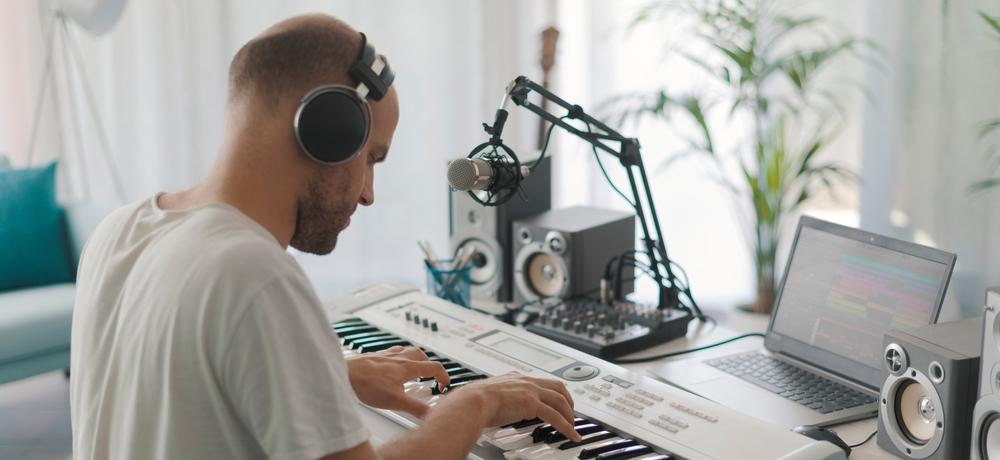
[[[361,35],[327,15],[299,16],[253,38],[229,64],[229,102],[260,99],[275,110],[312,88],[350,84],[348,69],[361,52]]]

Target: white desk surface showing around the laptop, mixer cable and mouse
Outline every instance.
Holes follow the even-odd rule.
[[[716,310],[703,308],[703,310],[706,314],[714,318],[718,322],[718,325],[702,325],[700,323],[692,323],[692,326],[688,331],[687,338],[674,340],[654,348],[643,350],[641,352],[628,355],[626,358],[638,358],[642,356],[652,356],[672,351],[684,350],[687,348],[711,344],[736,335],[745,334],[747,332],[764,332],[767,329],[768,317],[764,315],[744,313],[735,309]],[[708,357],[713,354],[730,354],[733,352],[754,349],[760,347],[761,345],[761,339],[747,338],[716,349],[705,350],[691,355],[684,355],[677,357],[676,359],[683,359],[689,356]],[[624,367],[633,370],[647,371],[662,363],[663,361],[642,364],[626,364]],[[655,377],[653,374],[650,374],[650,376]],[[833,431],[836,431],[837,434],[840,435],[841,439],[848,444],[857,444],[875,431],[876,421],[874,418],[870,418],[855,422],[848,422],[830,428]],[[851,454],[851,460],[892,460],[897,458],[898,457],[890,454],[889,452],[880,449],[875,444],[875,438],[872,438],[863,446],[854,449]]]

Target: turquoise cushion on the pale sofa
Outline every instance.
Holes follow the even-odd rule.
[[[0,291],[73,280],[56,164],[0,170]]]

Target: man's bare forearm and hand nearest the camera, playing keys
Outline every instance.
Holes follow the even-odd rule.
[[[464,459],[483,428],[538,417],[571,440],[573,399],[562,382],[507,374],[456,390],[419,428],[377,450],[365,442],[322,460]]]

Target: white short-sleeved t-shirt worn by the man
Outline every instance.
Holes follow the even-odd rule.
[[[368,429],[298,263],[235,208],[112,213],[73,311],[75,459],[315,459]]]

